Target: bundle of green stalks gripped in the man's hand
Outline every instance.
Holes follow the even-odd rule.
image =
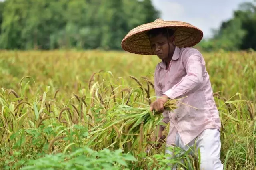
[[[174,111],[177,100],[170,100],[164,104],[164,109]],[[141,105],[144,105],[140,103]],[[154,131],[156,125],[161,121],[162,114],[150,111],[149,105],[133,108],[127,105],[119,105],[106,119],[107,123],[98,130],[92,132],[94,142],[111,141],[109,144],[123,147],[126,142],[132,143],[128,150],[136,145],[141,146],[147,134]],[[115,142],[115,144],[113,144]]]

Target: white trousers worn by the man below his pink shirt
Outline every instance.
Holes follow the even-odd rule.
[[[223,170],[223,164],[220,161],[221,143],[220,131],[218,129],[208,128],[204,130],[196,139],[192,140],[187,145],[182,142],[179,134],[176,134],[176,147],[179,147],[185,151],[188,151],[188,149],[191,148],[193,152],[195,152],[195,144],[196,150],[200,148],[200,170]],[[190,154],[193,152],[190,152]],[[166,149],[166,153],[171,155],[169,159],[175,158],[175,155],[170,150]],[[172,170],[176,170],[176,165],[174,165]]]

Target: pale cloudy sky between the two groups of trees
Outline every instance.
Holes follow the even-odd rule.
[[[233,16],[243,2],[253,0],[152,0],[161,12],[163,20],[188,22],[204,32],[204,38],[212,36],[212,28],[218,29],[222,21]]]

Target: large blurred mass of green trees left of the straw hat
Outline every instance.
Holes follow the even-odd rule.
[[[159,16],[151,0],[6,0],[1,49],[120,49],[134,27]]]

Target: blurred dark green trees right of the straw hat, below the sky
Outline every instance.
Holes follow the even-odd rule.
[[[222,22],[213,38],[197,45],[204,51],[256,50],[256,1],[240,4],[230,20]]]

